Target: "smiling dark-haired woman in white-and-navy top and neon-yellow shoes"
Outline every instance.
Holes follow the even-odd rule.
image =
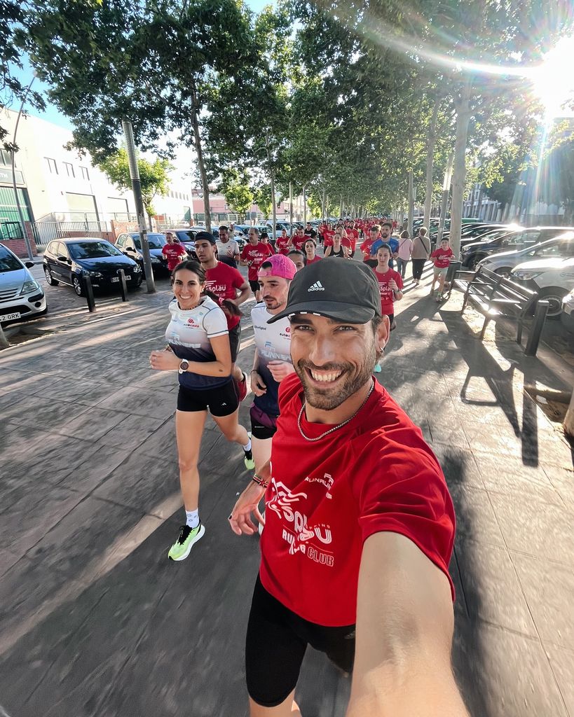
[[[199,520],[197,461],[207,409],[228,441],[243,447],[245,467],[253,469],[251,442],[237,422],[239,399],[231,376],[231,352],[225,313],[205,293],[205,272],[199,262],[177,265],[172,274],[175,298],[169,304],[168,346],[149,357],[156,371],[178,371],[175,430],[186,521],[169,549],[171,560],[184,560],[205,528]]]

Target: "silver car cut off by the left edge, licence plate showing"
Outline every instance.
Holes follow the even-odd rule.
[[[0,323],[36,318],[47,312],[46,297],[29,269],[34,262],[22,262],[0,244]]]

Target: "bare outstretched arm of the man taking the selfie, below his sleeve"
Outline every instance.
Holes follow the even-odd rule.
[[[347,717],[469,717],[451,670],[446,575],[398,533],[364,542]]]

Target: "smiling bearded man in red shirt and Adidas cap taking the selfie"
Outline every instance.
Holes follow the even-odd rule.
[[[296,374],[281,381],[270,462],[230,515],[237,535],[265,523],[250,715],[301,717],[312,645],[353,671],[348,717],[468,717],[451,669],[453,504],[420,429],[372,377],[389,335],[375,274],[305,267],[268,323],[285,317]]]

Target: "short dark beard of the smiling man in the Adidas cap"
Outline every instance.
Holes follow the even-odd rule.
[[[306,369],[319,369],[318,366],[309,363],[306,359],[297,361],[294,368],[297,376],[301,379],[303,389],[305,393],[305,401],[313,408],[321,411],[333,411],[339,407],[343,402],[347,401],[348,398],[356,394],[364,384],[369,381],[372,376],[372,372],[375,369],[377,363],[377,351],[375,348],[375,341],[372,342],[370,349],[364,355],[364,360],[357,369],[352,364],[326,364],[321,366],[320,371],[332,371],[333,373],[342,372],[344,379],[342,387],[337,385],[337,389],[319,389],[316,386],[309,384]]]

